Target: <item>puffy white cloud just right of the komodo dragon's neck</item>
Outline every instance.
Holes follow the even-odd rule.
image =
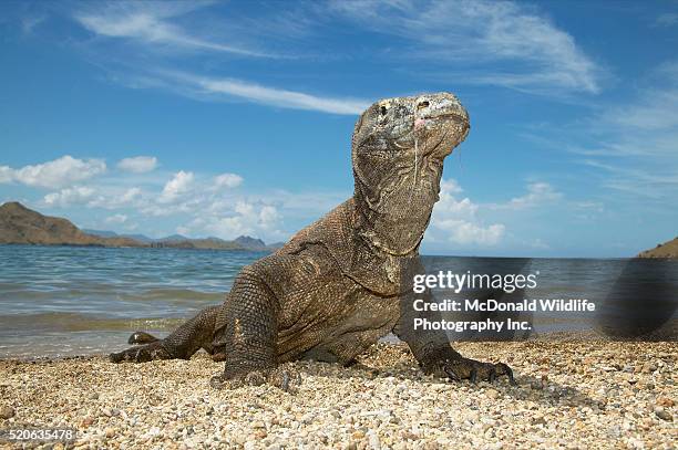
[[[433,208],[431,228],[433,240],[443,239],[460,244],[494,245],[504,236],[501,223],[485,226],[477,217],[479,206],[469,198],[458,200],[462,192],[455,180],[443,179],[440,200]]]

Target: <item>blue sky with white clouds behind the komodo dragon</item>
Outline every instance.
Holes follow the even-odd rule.
[[[678,234],[678,2],[0,3],[0,201],[289,238],[352,193],[378,98],[469,138],[423,252],[626,257]]]

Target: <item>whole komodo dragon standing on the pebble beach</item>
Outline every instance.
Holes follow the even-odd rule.
[[[135,334],[131,343],[138,336],[146,344],[111,354],[111,360],[189,358],[204,348],[225,363],[212,379],[217,388],[268,381],[288,389],[298,378],[282,363],[349,365],[392,332],[428,374],[490,381],[506,375],[513,383],[505,364],[462,357],[444,332],[414,331],[411,302],[402,301],[402,273],[417,261],[443,160],[468,133],[469,115],[452,94],[374,103],[352,136],[352,198],[245,266],[222,305],[164,339]]]

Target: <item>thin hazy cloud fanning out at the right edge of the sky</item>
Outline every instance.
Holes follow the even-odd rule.
[[[649,70],[645,80],[597,114],[559,124],[566,135],[551,128],[544,137],[553,145],[561,136],[556,145],[592,168],[593,179],[615,191],[616,200],[672,201],[678,195],[678,61]]]

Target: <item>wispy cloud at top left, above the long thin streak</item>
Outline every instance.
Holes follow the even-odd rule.
[[[199,2],[116,2],[75,14],[75,20],[93,33],[107,38],[134,40],[146,45],[176,50],[232,53],[251,57],[277,57],[235,44],[216,42],[192,34],[172,19],[189,13]]]

